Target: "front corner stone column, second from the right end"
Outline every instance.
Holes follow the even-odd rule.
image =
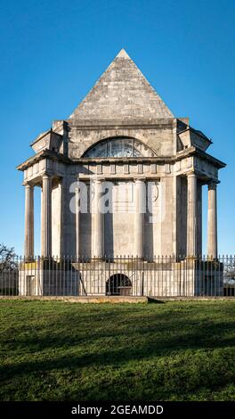
[[[188,175],[187,256],[197,256],[197,176]]]

